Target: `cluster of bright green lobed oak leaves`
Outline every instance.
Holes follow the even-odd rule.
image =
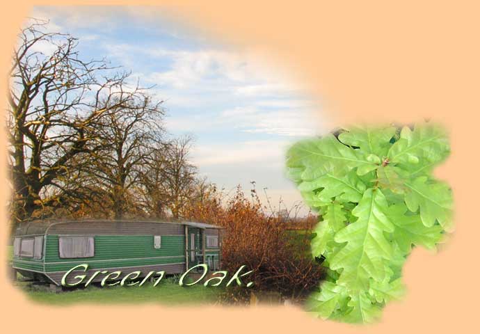
[[[312,255],[328,267],[310,311],[372,322],[403,294],[412,247],[435,248],[451,228],[451,189],[431,175],[448,155],[445,131],[430,123],[351,127],[291,147],[289,176],[322,217]]]

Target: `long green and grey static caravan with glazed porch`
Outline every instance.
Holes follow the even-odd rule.
[[[98,270],[168,275],[202,263],[218,270],[221,238],[222,228],[194,222],[31,221],[15,232],[12,263],[22,276],[56,285],[79,264],[88,264],[88,275]]]

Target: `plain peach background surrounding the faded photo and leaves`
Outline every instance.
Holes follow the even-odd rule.
[[[35,3],[65,4],[64,1]],[[129,1],[133,3],[133,1]],[[152,1],[138,3],[155,4]],[[415,250],[404,269],[408,296],[383,321],[354,327],[311,319],[292,307],[165,308],[95,305],[51,308],[26,301],[0,266],[3,331],[70,333],[141,331],[230,333],[447,333],[478,326],[479,6],[475,1],[158,1],[206,32],[255,43],[291,64],[319,95],[335,124],[432,118],[450,131],[452,154],[437,170],[454,189],[456,232],[433,255]],[[285,2],[285,1],[284,1]],[[387,4],[389,2],[390,4]],[[5,78],[15,29],[33,1],[3,3],[0,53]],[[68,1],[68,3],[128,3]],[[186,6],[189,5],[189,6]],[[6,91],[6,80],[0,81]],[[3,105],[6,105],[1,95]],[[1,134],[4,149],[5,135]],[[4,151],[3,151],[4,152]],[[6,154],[1,154],[4,159]],[[2,171],[4,160],[2,161]],[[7,189],[6,186],[3,189]],[[1,202],[6,199],[1,193]],[[3,206],[1,206],[3,210]],[[5,212],[3,213],[3,217]],[[5,249],[6,223],[0,249]],[[5,261],[5,252],[2,252]],[[28,318],[26,318],[28,315]],[[51,323],[53,321],[53,323]],[[205,322],[204,322],[205,321]],[[468,330],[467,330],[468,328]],[[8,333],[8,332],[6,332]]]

